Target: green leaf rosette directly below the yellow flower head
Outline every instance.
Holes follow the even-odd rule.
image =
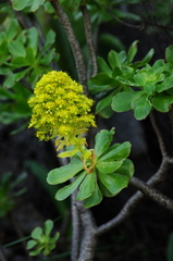
[[[102,129],[96,135],[92,161],[86,160],[84,164],[79,156],[75,156],[67,165],[49,172],[47,182],[51,185],[73,177],[70,185],[58,190],[57,200],[65,199],[78,188],[76,199],[84,200],[84,206],[90,208],[100,203],[102,196],[113,197],[127,186],[134,174],[134,165],[126,159],[131,144],[126,141],[111,146],[113,134],[114,129]]]

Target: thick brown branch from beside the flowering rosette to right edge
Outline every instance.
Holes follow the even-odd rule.
[[[140,190],[146,197],[149,197],[160,206],[173,212],[173,200],[158,191],[157,189],[150,187],[145,182],[137,177],[132,177],[129,184]]]

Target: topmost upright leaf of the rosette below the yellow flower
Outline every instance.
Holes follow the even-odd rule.
[[[110,132],[102,129],[95,136],[94,149],[96,151],[97,159],[109,148],[113,138],[113,134],[114,134],[114,129]]]

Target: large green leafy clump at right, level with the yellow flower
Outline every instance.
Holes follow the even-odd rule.
[[[96,113],[110,117],[112,111],[133,110],[137,120],[144,120],[152,109],[168,112],[173,103],[173,47],[165,50],[164,60],[158,60],[153,65],[148,62],[152,58],[151,49],[138,62],[134,62],[137,52],[137,41],[133,42],[127,54],[124,51],[110,51],[107,62],[99,58],[100,73],[89,80],[92,94],[104,95],[96,107]]]

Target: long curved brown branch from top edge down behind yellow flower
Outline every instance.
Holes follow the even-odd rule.
[[[81,51],[81,47],[79,44],[76,39],[76,36],[74,34],[74,30],[72,28],[71,22],[66,15],[66,13],[64,13],[60,2],[58,0],[51,0],[50,3],[52,4],[52,7],[54,8],[55,13],[59,16],[59,20],[66,33],[66,37],[69,39],[69,42],[71,45],[72,48],[72,52],[75,59],[75,63],[76,63],[76,69],[77,69],[77,73],[78,73],[78,79],[81,82],[81,84],[84,87],[84,92],[86,95],[88,95],[88,90],[87,90],[87,78],[86,78],[86,69],[85,69],[85,63],[84,63],[84,58]]]

